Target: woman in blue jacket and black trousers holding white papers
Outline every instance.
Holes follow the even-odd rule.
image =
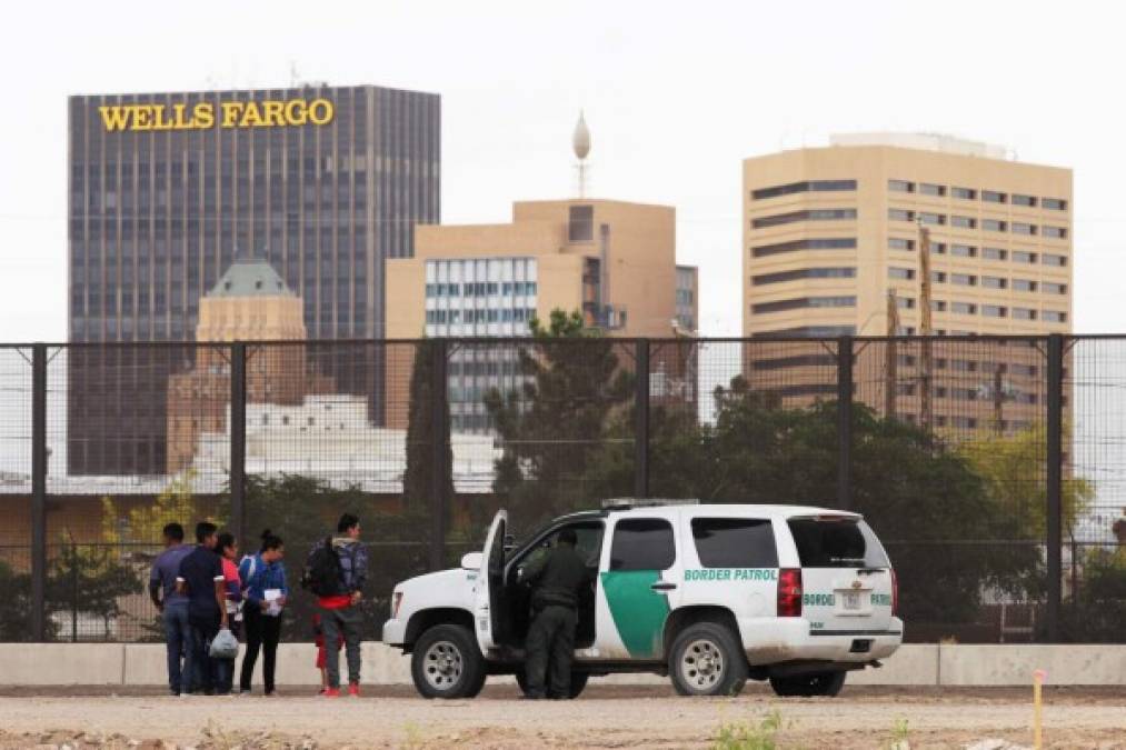
[[[285,580],[285,545],[282,537],[269,529],[262,532],[262,548],[257,555],[248,555],[239,564],[242,580],[243,626],[247,631],[247,653],[242,658],[242,675],[239,687],[250,693],[250,680],[258,661],[258,650],[262,650],[262,681],[266,695],[274,695],[274,670],[277,664],[278,641],[282,639],[282,611],[289,596]]]

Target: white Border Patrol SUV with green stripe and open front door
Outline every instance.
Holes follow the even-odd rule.
[[[883,546],[850,512],[796,506],[610,500],[511,546],[508,516],[462,568],[403,581],[383,641],[412,654],[426,697],[475,696],[488,675],[524,685],[530,591],[520,569],[564,528],[597,570],[579,605],[572,696],[591,676],[668,675],[681,695],[833,696],[903,639]]]

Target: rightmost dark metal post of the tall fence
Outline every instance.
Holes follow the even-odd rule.
[[[1047,370],[1047,636],[1056,643],[1061,636],[1063,602],[1063,336],[1060,333],[1048,336]]]

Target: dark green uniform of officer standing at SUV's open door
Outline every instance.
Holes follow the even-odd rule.
[[[524,580],[535,587],[534,617],[525,641],[528,695],[544,697],[549,661],[551,690],[546,695],[566,698],[571,693],[579,596],[590,584],[590,570],[574,547],[560,544],[534,554],[524,569]]]

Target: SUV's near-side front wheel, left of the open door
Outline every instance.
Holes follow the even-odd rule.
[[[462,625],[436,625],[414,643],[411,678],[425,698],[472,698],[485,684],[485,660],[473,633]]]

